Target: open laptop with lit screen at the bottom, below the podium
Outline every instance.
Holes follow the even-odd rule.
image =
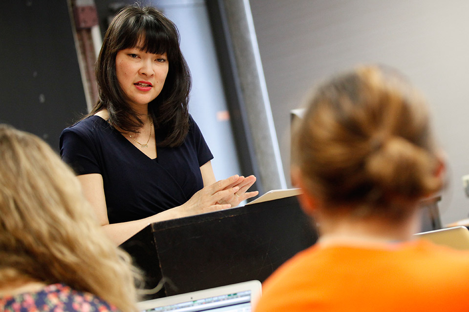
[[[251,312],[261,294],[257,280],[142,301],[140,312]]]

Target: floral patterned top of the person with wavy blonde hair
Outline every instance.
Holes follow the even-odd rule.
[[[89,292],[52,284],[39,292],[0,297],[1,312],[118,312],[119,310]]]

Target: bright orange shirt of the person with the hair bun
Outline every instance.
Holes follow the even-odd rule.
[[[426,241],[317,244],[265,281],[255,311],[469,311],[469,252]]]

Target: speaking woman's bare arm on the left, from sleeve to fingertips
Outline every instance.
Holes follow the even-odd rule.
[[[108,237],[116,245],[122,244],[150,223],[230,208],[232,206],[229,203],[221,204],[218,202],[224,197],[229,197],[230,195],[234,196],[233,194],[239,190],[239,187],[236,185],[230,186],[239,179],[239,176],[231,176],[228,179],[216,181],[205,186],[181,206],[168,209],[144,219],[109,224],[103,176],[100,174],[88,174],[77,177],[82,184],[86,199],[94,208],[98,223],[103,226]]]

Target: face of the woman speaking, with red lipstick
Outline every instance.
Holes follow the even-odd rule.
[[[166,53],[148,53],[139,46],[120,50],[116,55],[117,80],[136,110],[160,94],[169,69]]]

